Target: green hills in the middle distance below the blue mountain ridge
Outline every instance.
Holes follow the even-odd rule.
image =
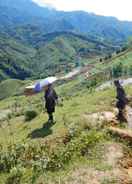
[[[60,32],[45,35],[35,47],[10,37],[1,38],[1,80],[40,78],[71,71],[90,59],[112,53],[115,47],[85,36]]]

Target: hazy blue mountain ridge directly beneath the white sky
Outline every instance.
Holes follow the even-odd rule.
[[[38,30],[41,28],[42,32],[46,34],[54,31],[76,31],[80,34],[92,33],[92,35],[112,41],[114,39],[124,41],[132,34],[132,22],[119,21],[115,17],[99,16],[85,11],[57,11],[47,7],[40,7],[31,0],[13,0],[14,3],[10,2],[11,0],[2,0],[0,2],[0,9],[4,7],[4,4],[6,7],[4,10],[1,10],[0,18],[5,23],[8,20],[7,18],[9,18],[9,22],[12,22],[12,24],[14,24],[15,20],[14,28],[17,27],[17,24],[23,27],[24,21],[24,25],[27,25],[27,27],[30,24],[36,25]],[[3,11],[4,17],[2,16]],[[10,17],[7,16],[8,13],[10,13]],[[12,19],[10,19],[11,17]]]

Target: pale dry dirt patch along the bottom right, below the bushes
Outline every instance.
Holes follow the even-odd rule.
[[[104,156],[100,160],[100,169],[85,166],[76,168],[64,184],[132,184],[127,170],[119,165],[124,156],[122,145],[107,143],[103,149]]]

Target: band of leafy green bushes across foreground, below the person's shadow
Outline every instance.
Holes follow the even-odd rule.
[[[72,159],[87,156],[89,149],[93,149],[104,139],[104,133],[87,129],[83,131],[78,126],[78,124],[69,126],[66,144],[59,144],[53,149],[50,149],[48,143],[9,145],[6,151],[1,148],[0,173],[8,174],[6,184],[23,183],[29,170],[32,172],[32,181],[37,180],[44,172],[61,170]]]

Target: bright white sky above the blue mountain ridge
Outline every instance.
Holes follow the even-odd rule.
[[[84,10],[98,15],[114,16],[120,20],[132,21],[132,0],[33,0],[57,10]]]

